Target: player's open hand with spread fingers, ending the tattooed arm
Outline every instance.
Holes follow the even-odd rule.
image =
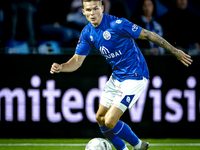
[[[185,54],[183,51],[178,50],[176,54],[177,59],[182,62],[185,66],[189,67],[192,64],[193,60],[190,55]]]

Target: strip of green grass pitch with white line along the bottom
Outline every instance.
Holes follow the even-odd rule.
[[[84,150],[89,140],[90,139],[0,139],[0,150]],[[149,150],[200,150],[200,139],[142,140],[150,143]],[[128,148],[132,150],[130,145],[128,145]]]

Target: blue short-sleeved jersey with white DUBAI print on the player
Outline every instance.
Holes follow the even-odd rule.
[[[103,14],[98,27],[86,25],[76,47],[76,54],[88,55],[97,49],[109,62],[113,76],[120,82],[127,79],[149,78],[146,61],[134,39],[142,28],[124,18]]]

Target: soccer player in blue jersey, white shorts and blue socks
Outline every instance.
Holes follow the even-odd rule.
[[[149,79],[147,64],[134,39],[149,40],[163,47],[185,66],[191,65],[192,59],[159,35],[124,18],[104,14],[102,0],[82,0],[82,3],[82,11],[89,24],[82,30],[73,57],[63,64],[53,63],[50,73],[77,70],[90,49],[97,49],[113,71],[103,90],[96,114],[100,130],[117,150],[128,150],[123,140],[129,142],[134,150],[146,150],[149,143],[141,141],[120,120],[126,109],[138,100]]]

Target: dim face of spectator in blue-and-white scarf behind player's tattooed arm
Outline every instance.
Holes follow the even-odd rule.
[[[142,5],[143,15],[146,17],[151,17],[153,14],[153,2],[151,0],[144,0]]]

